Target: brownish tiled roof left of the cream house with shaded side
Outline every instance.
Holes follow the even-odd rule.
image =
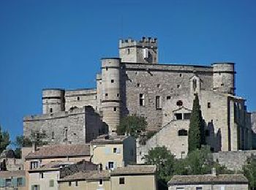
[[[90,156],[90,145],[49,145],[29,153],[25,159],[50,159],[62,157]]]

